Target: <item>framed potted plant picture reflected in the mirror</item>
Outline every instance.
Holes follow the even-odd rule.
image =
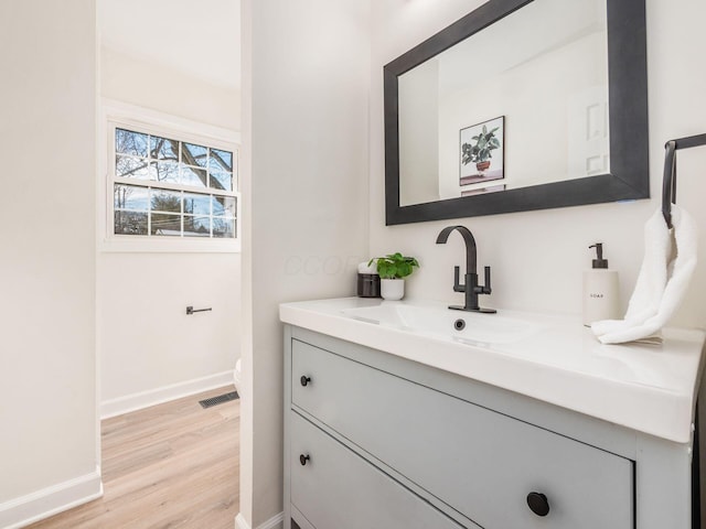
[[[505,177],[505,117],[461,129],[460,185]]]

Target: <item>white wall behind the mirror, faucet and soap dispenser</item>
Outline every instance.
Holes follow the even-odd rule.
[[[371,95],[371,253],[399,250],[417,256],[421,268],[408,285],[410,298],[462,301],[454,294],[452,267],[463,260],[463,244],[452,237],[435,244],[439,230],[463,224],[475,235],[479,267],[493,269],[491,306],[544,312],[580,312],[581,271],[590,264],[588,246],[605,242],[611,268],[620,271],[623,309],[643,256],[642,227],[657,207],[663,144],[667,139],[706,132],[706,53],[700,21],[706,6],[696,0],[648,0],[651,201],[603,204],[509,215],[494,215],[385,227],[382,66],[456,21],[479,0],[382,0],[373,2]],[[688,50],[686,53],[685,50]],[[702,264],[682,310],[674,320],[685,326],[706,325],[706,148],[678,156],[677,203],[702,228]]]

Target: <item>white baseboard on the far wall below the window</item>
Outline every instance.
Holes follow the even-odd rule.
[[[141,410],[150,406],[161,404],[170,400],[181,399],[190,395],[208,391],[223,386],[233,385],[233,371],[216,373],[207,377],[194,378],[183,382],[162,386],[161,388],[140,391],[139,393],[105,400],[100,403],[100,419],[121,415],[130,411]]]

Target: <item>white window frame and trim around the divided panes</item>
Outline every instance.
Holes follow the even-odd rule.
[[[143,235],[116,235],[114,227],[114,184],[125,183],[115,176],[115,129],[128,129],[146,132],[163,138],[205,144],[215,149],[233,152],[233,193],[228,196],[236,198],[236,234],[235,238],[201,238],[201,237],[154,237]],[[146,109],[135,105],[111,99],[103,99],[100,119],[98,122],[98,138],[105,140],[98,156],[97,186],[98,192],[98,249],[99,251],[124,252],[239,252],[240,228],[243,218],[243,201],[239,192],[239,134],[235,130],[214,127],[192,121],[163,112]],[[145,183],[145,182],[141,182]],[[174,188],[182,191],[183,186],[172,186],[160,183],[159,188]],[[206,190],[191,190],[204,193]]]

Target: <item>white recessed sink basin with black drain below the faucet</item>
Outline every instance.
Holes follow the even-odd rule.
[[[500,314],[456,311],[445,306],[383,302],[341,311],[343,315],[375,325],[434,335],[470,344],[507,344],[542,327],[526,320]]]

